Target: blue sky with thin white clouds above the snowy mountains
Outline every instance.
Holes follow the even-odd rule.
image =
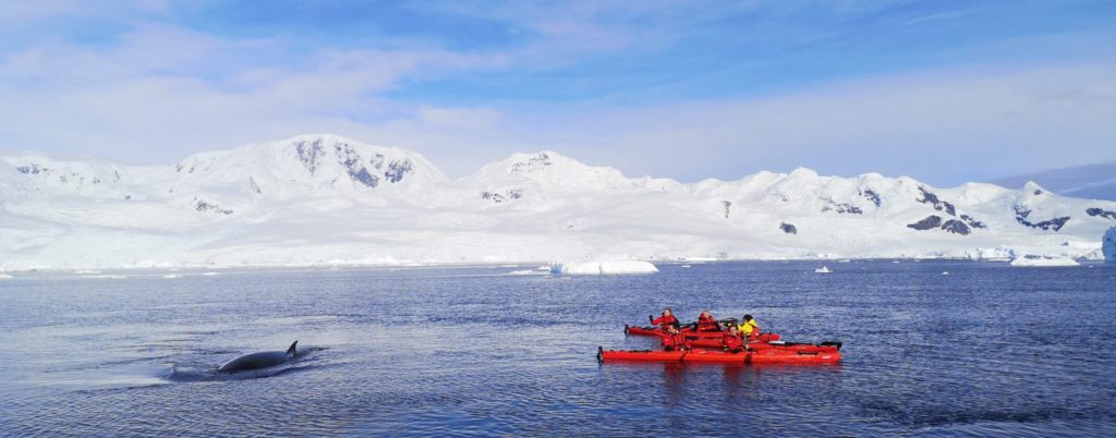
[[[0,152],[309,133],[454,177],[543,149],[682,182],[1113,162],[1116,2],[0,2]]]

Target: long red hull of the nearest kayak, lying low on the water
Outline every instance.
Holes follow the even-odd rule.
[[[840,353],[759,350],[731,353],[720,350],[651,351],[597,349],[600,362],[706,362],[706,363],[795,363],[824,364],[840,361]]]

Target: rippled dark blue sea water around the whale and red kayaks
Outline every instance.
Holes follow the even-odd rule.
[[[0,281],[0,435],[1116,435],[1116,266],[266,271]],[[949,271],[950,275],[943,275]],[[828,367],[598,364],[670,305]],[[225,376],[239,353],[298,360]]]

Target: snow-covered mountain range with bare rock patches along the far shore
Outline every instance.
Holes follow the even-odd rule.
[[[127,166],[0,155],[0,271],[587,259],[1099,260],[1116,202],[1033,183],[761,172],[628,178],[554,152],[450,181],[422,155],[307,135]]]

